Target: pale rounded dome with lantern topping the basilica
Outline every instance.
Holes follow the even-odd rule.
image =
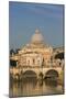
[[[35,34],[31,38],[32,43],[43,43],[43,35],[40,33],[38,30],[35,30]]]

